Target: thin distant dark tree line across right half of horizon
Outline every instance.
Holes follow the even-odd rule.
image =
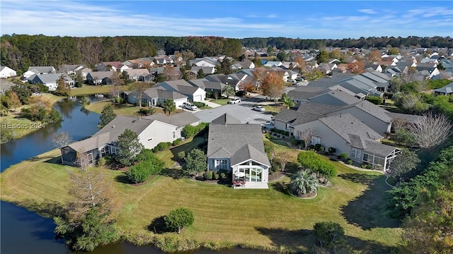
[[[322,49],[323,47],[356,47],[356,48],[369,48],[369,47],[453,47],[453,40],[451,37],[360,37],[359,39],[292,39],[286,37],[250,37],[241,39],[244,47],[264,49],[267,47],[277,47],[277,49]]]

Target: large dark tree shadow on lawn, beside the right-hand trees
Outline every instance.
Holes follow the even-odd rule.
[[[362,195],[340,207],[343,217],[348,223],[360,226],[365,230],[399,226],[397,220],[391,219],[385,214],[386,191],[389,190],[389,186],[385,183],[385,176],[365,174],[340,174],[339,176],[368,186]]]

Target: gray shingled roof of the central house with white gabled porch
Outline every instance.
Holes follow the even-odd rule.
[[[270,167],[265,155],[261,126],[257,124],[212,124],[207,141],[208,158],[229,156],[231,165],[253,159]]]

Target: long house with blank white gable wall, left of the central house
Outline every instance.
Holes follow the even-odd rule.
[[[137,133],[139,142],[145,148],[152,149],[161,142],[173,142],[181,138],[181,131],[188,124],[197,126],[200,124],[200,119],[186,111],[171,116],[164,114],[153,114],[139,118],[117,116],[90,138],[62,147],[63,163],[76,165],[79,152],[86,153],[88,164],[94,164],[97,159],[105,155],[117,154],[120,147],[117,146],[116,142],[126,129]]]

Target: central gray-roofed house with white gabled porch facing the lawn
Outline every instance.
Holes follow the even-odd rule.
[[[269,168],[260,125],[210,124],[207,170],[231,171],[234,188],[267,189]]]

